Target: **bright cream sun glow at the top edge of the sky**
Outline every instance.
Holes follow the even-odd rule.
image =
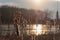
[[[39,10],[43,9],[49,2],[46,0],[27,0],[27,4],[29,4],[32,9]]]

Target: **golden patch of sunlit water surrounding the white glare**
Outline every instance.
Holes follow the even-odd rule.
[[[30,26],[30,30],[29,30],[29,32],[27,31],[27,33],[30,33],[31,35],[41,35],[41,34],[45,34],[45,32],[47,32],[47,31],[48,30],[47,30],[46,25],[34,24],[34,25]]]

